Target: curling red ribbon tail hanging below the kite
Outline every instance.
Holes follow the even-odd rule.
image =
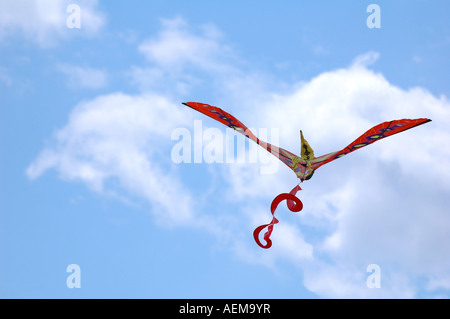
[[[282,193],[275,197],[275,199],[272,201],[272,205],[270,205],[270,211],[272,212],[272,221],[270,224],[265,224],[257,227],[253,231],[253,237],[255,238],[256,243],[262,247],[262,248],[270,248],[272,246],[272,241],[270,240],[270,235],[273,231],[273,226],[278,223],[278,219],[275,218],[275,210],[277,209],[277,206],[279,203],[281,203],[283,200],[286,200],[287,207],[291,212],[299,212],[303,209],[303,203],[300,199],[298,199],[295,194],[301,190],[300,185],[295,186],[290,193]],[[266,245],[263,245],[259,240],[259,233],[267,227],[267,232],[264,234],[263,238],[266,241]]]

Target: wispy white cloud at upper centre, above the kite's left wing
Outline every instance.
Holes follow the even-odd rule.
[[[177,96],[192,93],[194,88],[212,91],[239,83],[248,75],[241,72],[241,61],[222,38],[211,24],[194,29],[180,17],[161,19],[158,34],[138,46],[147,63],[131,68],[132,81],[142,91],[159,90]]]

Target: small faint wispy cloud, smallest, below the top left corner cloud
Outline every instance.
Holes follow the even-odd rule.
[[[72,88],[101,89],[108,84],[104,70],[70,64],[58,64],[57,69],[67,76],[67,83]]]

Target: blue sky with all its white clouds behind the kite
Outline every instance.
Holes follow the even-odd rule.
[[[381,28],[367,27],[371,3]],[[0,0],[0,297],[448,298],[448,9]],[[180,129],[192,149],[229,147],[208,144],[225,127],[186,101],[294,153],[302,129],[316,155],[387,120],[433,121],[321,167],[263,250],[253,229],[298,180],[262,173],[262,154],[175,163]]]

